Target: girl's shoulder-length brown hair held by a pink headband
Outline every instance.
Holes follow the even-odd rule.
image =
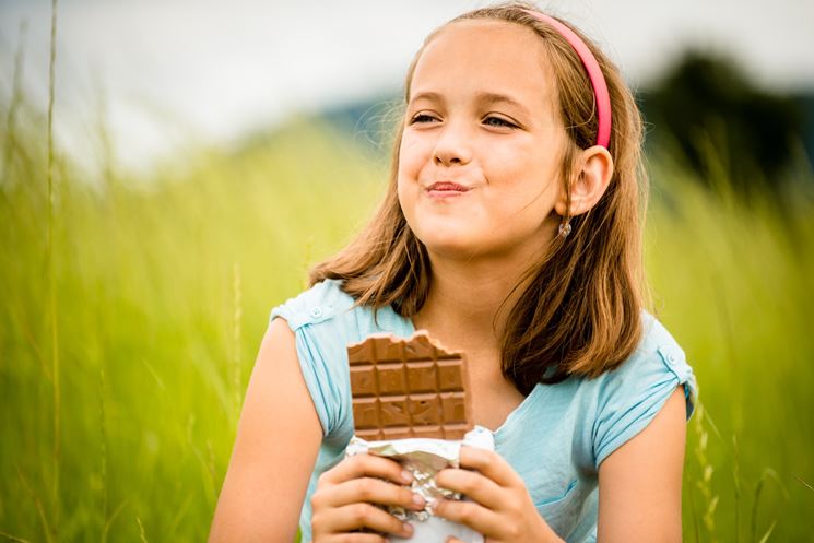
[[[499,4],[464,13],[447,25],[463,20],[505,21],[531,28],[541,37],[556,74],[559,114],[568,134],[561,166],[568,193],[577,174],[579,150],[597,140],[593,90],[571,46],[522,9],[538,10],[527,2]],[[410,102],[410,84],[424,47],[447,25],[427,36],[413,58],[404,86],[405,103]],[[595,377],[613,369],[633,353],[641,338],[646,287],[640,213],[644,216],[647,189],[641,116],[618,69],[574,31],[593,52],[607,83],[613,111],[609,151],[615,168],[594,208],[570,219],[570,235],[557,236],[545,258],[533,262],[518,283],[530,280],[506,321],[502,370],[523,394],[538,382],[558,382],[569,375]],[[343,280],[343,291],[356,299],[356,305],[392,305],[409,318],[426,300],[430,268],[426,249],[408,226],[397,196],[403,130],[402,118],[387,196],[373,221],[339,255],[316,265],[309,282]]]

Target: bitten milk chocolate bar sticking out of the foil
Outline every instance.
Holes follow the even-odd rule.
[[[356,436],[365,440],[462,439],[473,427],[463,353],[425,331],[370,335],[347,346]]]

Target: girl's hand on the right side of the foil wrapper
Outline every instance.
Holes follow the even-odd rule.
[[[469,470],[441,470],[436,483],[473,501],[439,500],[435,507],[438,517],[479,531],[487,543],[563,541],[538,514],[520,475],[498,453],[464,446],[460,464]],[[460,541],[450,536],[447,543]]]

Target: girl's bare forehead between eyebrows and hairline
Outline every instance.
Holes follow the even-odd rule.
[[[427,42],[415,64],[410,95],[495,91],[543,105],[554,76],[542,38],[505,21],[450,23]]]

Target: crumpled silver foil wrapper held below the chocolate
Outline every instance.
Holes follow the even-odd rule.
[[[461,446],[479,447],[494,450],[495,444],[492,432],[482,426],[475,426],[462,440],[447,439],[391,439],[382,441],[366,441],[356,436],[345,449],[345,456],[369,453],[391,458],[413,474],[411,489],[424,497],[426,506],[421,511],[413,511],[402,507],[388,506],[386,509],[401,521],[413,524],[414,532],[410,539],[390,536],[393,542],[413,543],[444,543],[449,535],[455,535],[464,543],[483,543],[484,539],[470,528],[450,522],[433,515],[439,499],[465,499],[459,493],[440,488],[435,482],[435,475],[445,468],[460,467]]]

